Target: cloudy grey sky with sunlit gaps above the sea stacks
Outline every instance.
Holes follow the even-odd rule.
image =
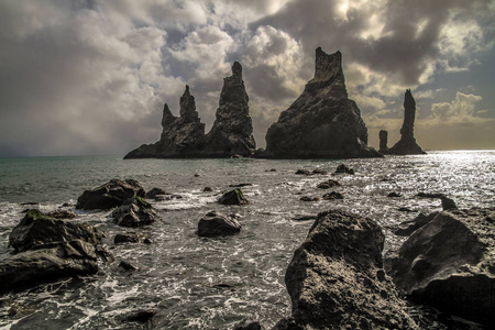
[[[241,62],[258,146],[341,51],[370,144],[417,102],[426,150],[495,148],[492,0],[0,0],[0,156],[125,154],[190,86],[207,131]]]

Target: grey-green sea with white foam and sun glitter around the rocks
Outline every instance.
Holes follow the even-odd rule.
[[[355,175],[332,175],[342,163]],[[295,175],[299,168],[329,174]],[[116,262],[96,276],[1,297],[0,329],[231,329],[243,318],[260,319],[270,328],[290,312],[284,274],[312,224],[294,218],[328,209],[372,218],[383,227],[388,251],[404,240],[392,233],[398,223],[419,212],[441,210],[440,200],[417,197],[420,191],[443,193],[460,208],[495,206],[495,151],[343,161],[0,158],[0,257],[11,252],[8,238],[24,209],[51,211],[65,202],[74,209],[85,189],[112,178],[133,178],[146,190],[160,187],[183,198],[152,201],[162,220],[138,229],[151,245],[114,245],[117,233],[136,230],[113,224],[110,211],[76,210],[78,218],[72,221],[107,233],[106,244]],[[328,178],[342,186],[316,188]],[[235,184],[251,184],[242,188],[250,205],[218,205],[220,194]],[[207,186],[211,193],[202,191]],[[322,200],[331,190],[344,199]],[[402,197],[388,198],[393,191]],[[300,201],[301,196],[320,200]],[[198,238],[197,223],[209,210],[241,216],[241,233]],[[121,272],[120,261],[140,270]],[[157,315],[146,324],[125,321],[140,309],[154,309]]]

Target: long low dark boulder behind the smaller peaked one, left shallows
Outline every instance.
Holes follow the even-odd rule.
[[[145,197],[144,188],[133,179],[112,179],[92,190],[86,190],[77,198],[76,209],[108,210],[120,207],[133,196]]]

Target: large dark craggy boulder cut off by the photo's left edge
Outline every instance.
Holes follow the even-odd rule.
[[[96,274],[100,261],[111,260],[100,245],[103,237],[94,227],[29,211],[9,237],[15,251],[0,262],[0,293]]]

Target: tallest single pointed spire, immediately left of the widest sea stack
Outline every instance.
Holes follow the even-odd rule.
[[[251,156],[256,148],[248,94],[242,80],[242,66],[232,65],[232,76],[223,78],[219,108],[204,153],[210,157]]]

